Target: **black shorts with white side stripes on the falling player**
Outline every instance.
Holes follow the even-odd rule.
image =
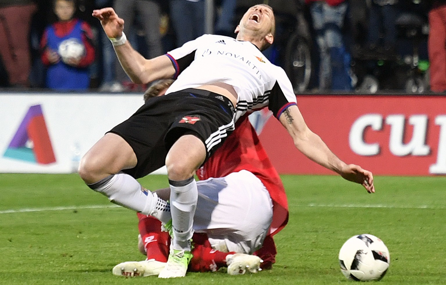
[[[233,115],[226,97],[189,88],[149,99],[109,132],[124,138],[136,154],[136,167],[123,172],[141,178],[164,166],[173,143],[186,134],[201,139],[210,157],[234,130]]]

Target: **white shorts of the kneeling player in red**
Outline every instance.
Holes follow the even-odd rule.
[[[273,203],[263,183],[247,170],[198,181],[194,231],[216,250],[252,254],[263,244]]]

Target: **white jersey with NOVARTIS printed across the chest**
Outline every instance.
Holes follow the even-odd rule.
[[[285,71],[269,62],[249,41],[206,34],[167,56],[177,80],[166,94],[207,84],[229,84],[238,95],[234,121],[265,106],[279,118],[287,107],[297,104]]]

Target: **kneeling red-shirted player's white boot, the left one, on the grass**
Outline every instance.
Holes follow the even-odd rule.
[[[116,265],[111,272],[116,276],[146,277],[160,274],[165,265],[165,262],[160,262],[154,259],[127,261]]]

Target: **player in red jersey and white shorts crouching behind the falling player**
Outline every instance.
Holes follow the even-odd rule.
[[[164,79],[152,84],[145,100],[163,95],[172,82]],[[198,169],[197,176],[202,181],[197,182],[189,271],[227,267],[229,274],[238,275],[271,268],[277,254],[273,235],[288,222],[288,202],[281,178],[247,115],[237,121],[235,131]],[[168,190],[160,191],[157,194],[168,200]],[[168,204],[164,211],[169,212]],[[160,221],[149,215],[137,216],[138,245],[147,260],[120,263],[113,268],[114,275],[158,275],[167,261],[169,235],[161,231]]]

